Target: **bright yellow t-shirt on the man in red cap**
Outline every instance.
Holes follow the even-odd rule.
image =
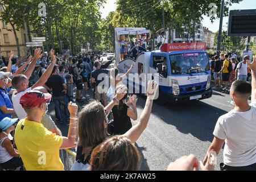
[[[14,139],[27,171],[64,170],[59,153],[63,138],[48,131],[42,123],[20,120]]]

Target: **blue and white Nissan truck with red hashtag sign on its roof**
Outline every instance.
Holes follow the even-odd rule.
[[[212,97],[210,63],[205,43],[163,44],[161,50],[142,52],[134,60],[125,59],[118,64],[120,73],[135,67],[124,81],[133,86],[135,93],[146,93],[147,80],[159,84],[158,102],[203,100]],[[150,77],[148,77],[150,75]]]

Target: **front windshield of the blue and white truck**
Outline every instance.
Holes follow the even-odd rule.
[[[183,53],[170,55],[172,75],[185,75],[209,71],[207,53]]]

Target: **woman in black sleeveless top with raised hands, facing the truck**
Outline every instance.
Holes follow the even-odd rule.
[[[115,105],[112,109],[114,116],[113,132],[115,135],[125,134],[132,127],[131,119],[135,121],[138,117],[136,107],[137,96],[129,96],[128,102],[126,102],[126,99],[127,94],[119,101],[119,104]],[[133,105],[133,108],[129,107],[130,104]]]

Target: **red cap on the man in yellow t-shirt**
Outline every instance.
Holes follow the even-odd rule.
[[[31,109],[40,104],[49,102],[52,98],[52,95],[49,93],[42,93],[38,90],[30,90],[22,97],[20,97],[19,104],[22,105],[24,109]]]

